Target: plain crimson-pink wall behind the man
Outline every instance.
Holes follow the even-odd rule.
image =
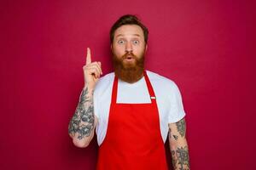
[[[0,169],[95,169],[96,139],[76,148],[67,126],[85,48],[113,71],[108,31],[123,14],[148,26],[147,69],[180,88],[191,169],[255,169],[251,2],[2,1]]]

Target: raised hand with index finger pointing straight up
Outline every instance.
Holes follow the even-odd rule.
[[[102,64],[101,62],[92,62],[90,58],[90,48],[87,48],[86,64],[83,66],[84,70],[84,83],[90,87],[94,88],[96,82],[102,75]]]

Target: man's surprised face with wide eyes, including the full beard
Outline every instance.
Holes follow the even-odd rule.
[[[147,45],[140,26],[120,26],[114,32],[111,49],[115,75],[119,79],[125,82],[137,82],[143,77]]]

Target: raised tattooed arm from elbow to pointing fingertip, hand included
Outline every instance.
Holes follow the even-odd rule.
[[[101,63],[91,63],[90,48],[87,48],[84,70],[84,88],[80,94],[79,104],[69,122],[68,133],[73,144],[84,148],[90,144],[97,123],[93,108],[93,92],[96,82],[102,75]]]

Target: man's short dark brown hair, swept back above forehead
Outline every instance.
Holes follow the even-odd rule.
[[[132,15],[132,14],[125,14],[117,20],[113,26],[111,27],[110,30],[110,42],[113,43],[113,35],[114,31],[116,31],[120,26],[125,26],[125,25],[137,25],[140,26],[143,29],[143,35],[144,35],[144,41],[147,43],[148,42],[148,28],[143,25],[141,20],[137,18],[137,16]]]

